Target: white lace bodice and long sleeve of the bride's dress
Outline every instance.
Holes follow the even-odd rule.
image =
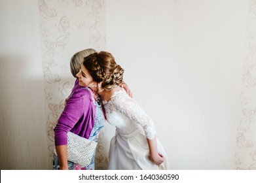
[[[107,122],[115,125],[121,135],[131,135],[142,127],[148,139],[155,137],[153,120],[124,90],[113,93],[110,101],[103,101],[103,105]]]

